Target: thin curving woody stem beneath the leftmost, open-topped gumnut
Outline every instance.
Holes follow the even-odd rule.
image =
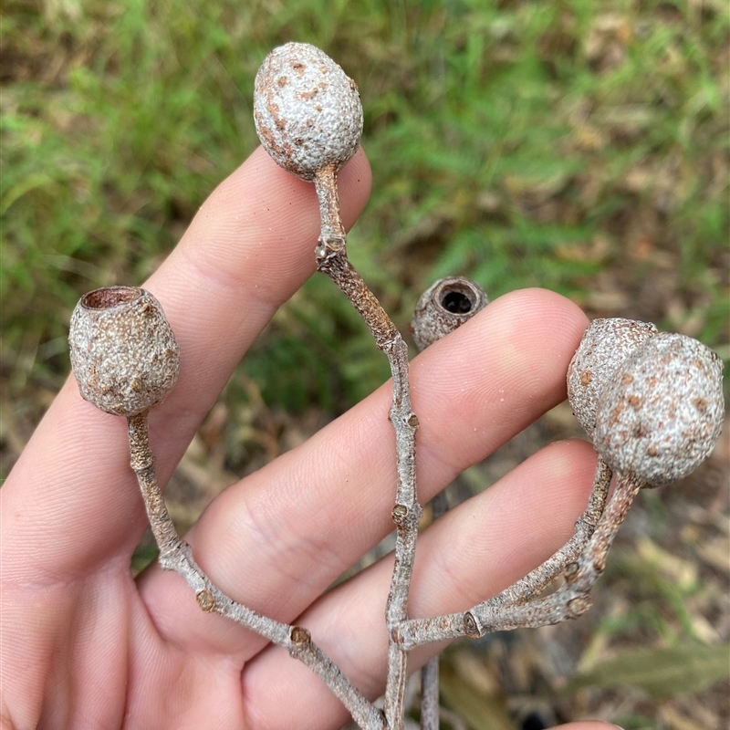
[[[137,474],[152,534],[160,547],[160,566],[181,575],[195,591],[198,606],[206,613],[219,613],[283,647],[306,664],[328,685],[363,730],[387,730],[381,710],[360,693],[337,665],[312,641],[309,631],[291,626],[251,610],[216,588],[193,559],[191,547],[177,534],[154,474],[147,412],[127,419],[130,465]]]

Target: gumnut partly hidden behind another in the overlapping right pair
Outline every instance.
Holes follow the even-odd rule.
[[[593,438],[600,394],[621,363],[657,329],[634,319],[594,319],[583,333],[568,365],[568,401],[573,414]]]

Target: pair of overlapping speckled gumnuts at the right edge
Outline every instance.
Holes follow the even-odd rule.
[[[568,400],[616,474],[657,486],[709,456],[725,413],[722,360],[685,335],[595,319],[568,367]]]

